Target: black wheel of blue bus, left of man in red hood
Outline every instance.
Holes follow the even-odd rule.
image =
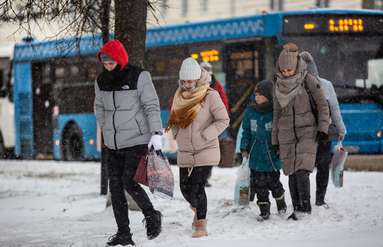
[[[63,144],[65,160],[81,161],[84,159],[81,131],[76,124],[72,124],[65,132]]]

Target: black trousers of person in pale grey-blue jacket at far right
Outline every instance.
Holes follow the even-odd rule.
[[[316,198],[324,200],[324,195],[329,184],[329,170],[331,157],[331,140],[318,141],[315,165],[316,173]]]

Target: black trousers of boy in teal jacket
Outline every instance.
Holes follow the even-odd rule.
[[[278,198],[285,193],[285,189],[283,189],[283,185],[279,180],[281,177],[280,171],[257,172],[253,169],[250,169],[250,171],[254,183],[252,188],[254,188],[255,193],[257,193],[257,204],[262,202],[270,203],[268,199],[269,190],[273,198]]]

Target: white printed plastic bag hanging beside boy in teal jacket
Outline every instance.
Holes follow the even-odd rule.
[[[244,157],[242,165],[237,171],[237,181],[234,193],[234,205],[246,206],[250,204],[250,167]]]

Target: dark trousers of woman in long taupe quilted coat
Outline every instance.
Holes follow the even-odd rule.
[[[288,176],[288,187],[294,208],[298,208],[302,205],[302,201],[309,201],[311,198],[309,175],[309,170],[302,169]]]

